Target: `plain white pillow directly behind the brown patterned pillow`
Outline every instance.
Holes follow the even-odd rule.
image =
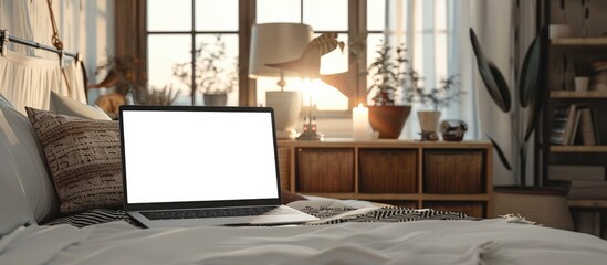
[[[6,159],[0,160],[0,168],[13,170],[14,178],[19,178],[28,209],[35,220],[44,222],[53,219],[59,201],[32,125],[1,94],[0,145],[7,150]]]

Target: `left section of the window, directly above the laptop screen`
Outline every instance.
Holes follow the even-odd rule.
[[[202,92],[210,89],[205,78],[216,74],[207,67],[218,70],[221,89],[238,87],[238,0],[148,0],[149,85],[178,89],[178,105],[202,105]],[[228,105],[238,105],[238,93],[229,91]]]

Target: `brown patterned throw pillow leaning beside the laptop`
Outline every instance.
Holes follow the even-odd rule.
[[[118,123],[27,107],[60,200],[60,212],[123,203]]]

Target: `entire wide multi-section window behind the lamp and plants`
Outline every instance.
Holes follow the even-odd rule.
[[[226,56],[220,65],[227,71],[238,71],[240,81],[239,89],[228,96],[229,105],[264,105],[264,92],[279,89],[278,78],[250,80],[244,68],[234,65],[236,60],[240,65],[248,65],[248,38],[255,22],[303,22],[312,25],[318,35],[338,32],[339,41],[347,43],[348,49],[363,44],[365,49],[358,51],[357,62],[349,64],[356,96],[347,98],[322,82],[314,83],[322,86],[312,89],[314,104],[328,116],[346,117],[348,109],[359,102],[369,103],[366,96],[368,80],[364,73],[376,56],[377,45],[385,39],[393,45],[396,42],[407,44],[414,67],[427,77],[426,82],[436,83],[446,72],[444,67],[435,67],[447,65],[447,50],[444,45],[437,45],[447,42],[446,0],[147,0],[146,4],[149,84],[153,87],[172,84],[181,93],[178,104],[182,105],[202,105],[203,85],[196,75],[191,76],[201,66],[192,63],[197,62],[197,53],[192,51],[202,44],[212,46],[218,36],[226,44]],[[185,65],[190,74],[185,78],[176,77],[177,64]],[[285,88],[300,89],[304,98],[308,98],[308,92],[299,78],[287,80]]]

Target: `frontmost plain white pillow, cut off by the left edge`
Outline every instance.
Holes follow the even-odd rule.
[[[10,152],[0,141],[0,163],[10,161]],[[27,223],[33,222],[30,204],[25,199],[13,167],[0,167],[0,237]]]

